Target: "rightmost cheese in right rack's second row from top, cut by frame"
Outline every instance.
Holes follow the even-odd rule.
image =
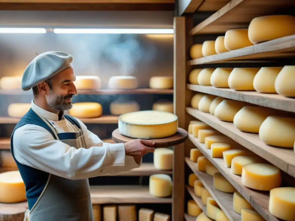
[[[286,65],[279,72],[275,81],[275,89],[279,95],[295,97],[295,65]]]

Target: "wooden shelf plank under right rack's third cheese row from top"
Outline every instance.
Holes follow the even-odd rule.
[[[207,123],[217,131],[220,131],[224,135],[232,138],[237,143],[246,147],[258,156],[266,159],[282,171],[295,177],[295,154],[293,148],[284,149],[268,146],[259,139],[258,134],[242,132],[231,122],[220,121],[214,115],[203,113],[194,108],[187,107],[186,111],[195,118]]]

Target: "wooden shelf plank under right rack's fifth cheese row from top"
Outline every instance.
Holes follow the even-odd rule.
[[[196,174],[199,180],[202,182],[204,187],[208,190],[213,199],[217,202],[220,209],[225,213],[230,221],[240,221],[241,215],[233,211],[233,194],[224,193],[214,188],[213,177],[197,170],[197,165],[189,159],[185,158],[186,163],[189,165],[191,170]]]

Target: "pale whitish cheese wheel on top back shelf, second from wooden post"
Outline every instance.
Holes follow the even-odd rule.
[[[137,88],[137,78],[134,76],[113,76],[109,79],[109,88],[134,89]]]

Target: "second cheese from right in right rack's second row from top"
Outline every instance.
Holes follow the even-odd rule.
[[[253,87],[259,93],[276,94],[275,81],[283,67],[261,67],[254,77]]]

